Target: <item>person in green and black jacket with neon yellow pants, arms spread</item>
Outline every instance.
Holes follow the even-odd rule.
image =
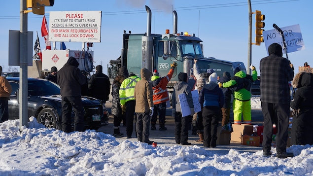
[[[234,124],[243,123],[251,124],[251,82],[257,79],[257,71],[255,67],[252,67],[252,76],[246,74],[239,67],[234,70],[234,77],[228,82],[220,83],[220,87],[227,88],[230,87],[235,90],[233,93],[233,111],[234,111]]]

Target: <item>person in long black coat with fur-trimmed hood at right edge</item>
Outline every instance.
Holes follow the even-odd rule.
[[[313,74],[298,72],[292,86],[298,89],[290,104],[297,112],[292,119],[291,144],[313,145]]]

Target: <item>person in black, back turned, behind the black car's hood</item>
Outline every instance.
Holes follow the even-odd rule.
[[[102,73],[102,66],[96,67],[96,73],[90,77],[88,83],[90,96],[104,102],[108,101],[110,94],[111,83],[109,77]]]

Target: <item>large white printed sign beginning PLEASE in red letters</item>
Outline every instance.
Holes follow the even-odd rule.
[[[49,41],[101,42],[101,11],[51,11]]]

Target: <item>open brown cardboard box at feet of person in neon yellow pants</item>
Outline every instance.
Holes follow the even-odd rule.
[[[241,142],[242,135],[252,135],[253,133],[253,125],[246,125],[246,124],[232,124],[233,126],[233,133],[231,135],[231,141]]]

